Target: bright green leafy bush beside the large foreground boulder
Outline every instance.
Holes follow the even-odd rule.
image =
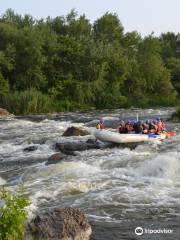
[[[0,200],[0,240],[22,239],[29,200],[23,195],[22,189],[11,195],[4,188],[0,190]]]

